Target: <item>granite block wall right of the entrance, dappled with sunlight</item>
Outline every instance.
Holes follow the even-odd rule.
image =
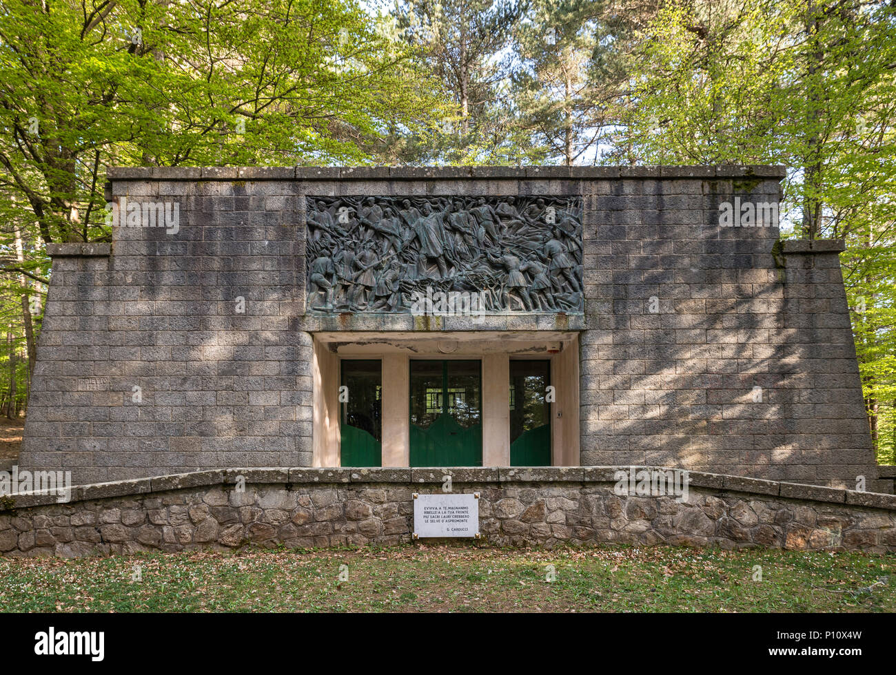
[[[697,173],[697,172],[695,172]],[[874,489],[839,242],[719,226],[776,179],[583,184],[582,464]]]

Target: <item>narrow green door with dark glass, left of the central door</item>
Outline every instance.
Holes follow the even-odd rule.
[[[383,466],[382,363],[341,361],[340,385],[340,464]]]

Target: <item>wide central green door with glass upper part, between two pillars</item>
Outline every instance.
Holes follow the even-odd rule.
[[[482,364],[410,362],[410,466],[482,466]]]

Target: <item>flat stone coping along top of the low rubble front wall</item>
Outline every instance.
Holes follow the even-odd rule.
[[[194,487],[251,484],[348,484],[406,483],[421,486],[444,483],[450,475],[452,483],[616,483],[616,472],[684,471],[669,466],[436,466],[436,467],[263,467],[196,471],[152,478],[137,478],[111,483],[90,483],[72,488],[71,504],[77,501],[102,500],[151,492],[183,490]],[[896,511],[896,495],[877,492],[841,490],[820,485],[764,481],[745,476],[707,474],[689,471],[690,485],[719,491],[779,496],[794,500],[848,504],[866,508]],[[0,498],[0,511],[60,503],[56,493],[47,491],[18,492]]]

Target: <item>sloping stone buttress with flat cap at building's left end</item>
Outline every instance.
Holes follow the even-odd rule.
[[[137,438],[125,438],[125,426],[108,410],[130,401],[130,380],[110,367],[112,352],[134,358],[139,347],[119,330],[136,330],[136,316],[110,316],[112,301],[134,307],[136,289],[110,289],[109,244],[47,244],[53,260],[53,279],[38,337],[37,363],[31,378],[28,415],[18,465],[29,471],[72,471],[75,483],[99,483],[118,478],[110,474],[111,457],[130,452],[133,474],[159,466],[158,457],[139,452]],[[114,345],[114,346],[110,346]],[[134,363],[128,363],[133,369]],[[135,414],[136,410],[132,408]],[[102,437],[107,430],[112,439]],[[111,440],[111,443],[110,443]],[[167,440],[159,450],[167,450]],[[161,453],[159,453],[161,454]]]

